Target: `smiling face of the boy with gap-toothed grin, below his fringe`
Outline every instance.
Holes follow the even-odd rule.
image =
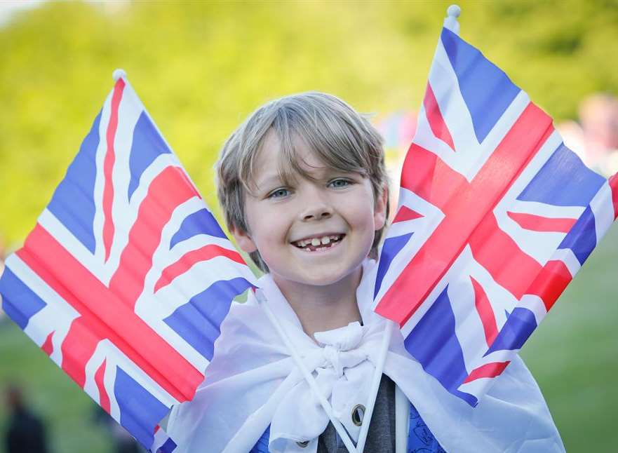
[[[268,133],[252,194],[245,195],[249,231],[232,233],[243,250],[260,252],[277,283],[330,285],[360,269],[375,231],[384,227],[386,191],[374,200],[368,177],[327,168],[306,144],[296,145],[315,180],[295,175],[286,186],[277,171],[278,137]]]

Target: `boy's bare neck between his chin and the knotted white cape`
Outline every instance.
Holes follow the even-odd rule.
[[[363,268],[325,286],[306,285],[272,275],[274,282],[300,320],[302,330],[314,339],[315,332],[337,329],[361,321],[356,303],[356,288]]]

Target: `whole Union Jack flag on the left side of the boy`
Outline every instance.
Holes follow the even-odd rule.
[[[0,279],[4,311],[142,445],[164,452],[232,299],[255,278],[121,75]]]

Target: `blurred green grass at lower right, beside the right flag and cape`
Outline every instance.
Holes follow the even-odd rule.
[[[618,445],[618,225],[523,347],[567,452]]]

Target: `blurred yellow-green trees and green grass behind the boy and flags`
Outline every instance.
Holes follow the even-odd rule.
[[[43,2],[11,15],[0,24],[0,241],[13,250],[32,229],[116,67],[216,208],[217,151],[266,100],[322,90],[378,116],[417,109],[450,3]],[[618,1],[459,5],[462,37],[554,119],[618,93]],[[522,353],[570,452],[618,449],[617,258],[614,226]],[[5,319],[0,386],[9,380],[48,421],[53,452],[111,451],[93,403]]]

